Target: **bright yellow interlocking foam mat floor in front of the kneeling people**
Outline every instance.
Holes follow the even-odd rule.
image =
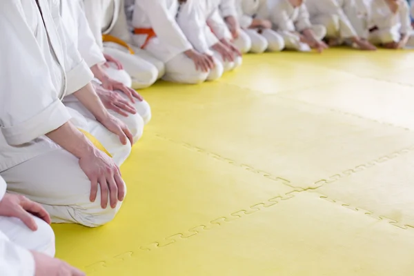
[[[248,55],[141,92],[153,118],[101,228],[53,226],[88,275],[414,275],[414,52]]]

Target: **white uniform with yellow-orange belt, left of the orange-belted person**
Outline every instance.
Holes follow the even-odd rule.
[[[106,34],[127,44],[131,42],[124,8],[124,0],[84,0],[86,18],[100,48],[121,61],[132,78],[132,88],[147,88],[164,75],[164,64],[139,48],[128,45],[135,52],[131,55],[125,46],[104,42],[102,38]]]

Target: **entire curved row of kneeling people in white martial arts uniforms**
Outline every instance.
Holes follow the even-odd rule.
[[[82,274],[36,216],[115,217],[151,118],[137,89],[212,81],[246,52],[413,46],[402,0],[8,0],[0,37],[0,271],[48,276]]]

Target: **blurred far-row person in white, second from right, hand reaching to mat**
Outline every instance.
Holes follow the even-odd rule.
[[[326,28],[326,39],[330,47],[349,43],[361,50],[376,50],[368,41],[361,39],[348,17],[357,14],[354,0],[306,0],[311,23]]]

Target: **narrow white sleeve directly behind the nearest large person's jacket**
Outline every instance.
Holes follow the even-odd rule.
[[[75,1],[75,0],[71,0]],[[83,11],[83,3],[77,1],[76,5],[76,14],[78,15],[78,50],[81,54],[81,57],[85,59],[88,67],[95,66],[98,63],[105,62],[105,57],[103,57],[103,52],[99,48],[95,37],[92,34],[92,31],[89,28],[88,20],[86,19],[85,12]]]

